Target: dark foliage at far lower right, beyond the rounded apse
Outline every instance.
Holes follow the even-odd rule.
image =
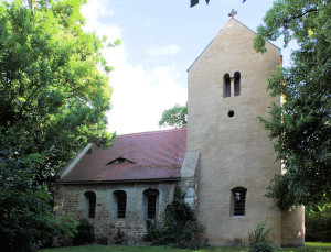
[[[318,209],[306,208],[306,241],[331,242],[331,204]]]

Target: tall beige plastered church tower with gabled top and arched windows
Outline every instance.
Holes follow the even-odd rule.
[[[214,245],[247,244],[267,220],[274,245],[303,245],[303,212],[284,213],[265,197],[280,162],[257,117],[269,118],[266,79],[280,48],[253,48],[255,33],[232,18],[189,68],[188,154],[197,153],[196,212]],[[186,154],[186,155],[188,155]],[[186,157],[185,157],[186,158]]]

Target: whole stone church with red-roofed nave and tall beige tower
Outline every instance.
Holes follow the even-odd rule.
[[[77,153],[58,175],[55,213],[87,218],[99,237],[120,229],[139,240],[147,219],[162,221],[179,185],[212,245],[245,245],[263,220],[274,226],[274,245],[303,245],[303,208],[280,211],[265,197],[281,167],[257,117],[280,103],[266,78],[281,55],[268,42],[256,53],[254,36],[232,18],[191,65],[186,128],[119,135],[107,150]]]

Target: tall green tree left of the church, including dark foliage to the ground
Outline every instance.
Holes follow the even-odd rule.
[[[106,40],[83,31],[84,2],[0,3],[1,251],[29,251],[58,232],[56,173],[87,142],[111,136]]]

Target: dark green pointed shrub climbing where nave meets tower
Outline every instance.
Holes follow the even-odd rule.
[[[174,199],[164,210],[166,219],[163,227],[158,228],[154,221],[147,222],[148,241],[153,244],[172,244],[178,248],[197,248],[194,242],[197,233],[204,232],[205,228],[199,223],[195,212],[184,201],[184,194],[179,187],[174,189]]]

